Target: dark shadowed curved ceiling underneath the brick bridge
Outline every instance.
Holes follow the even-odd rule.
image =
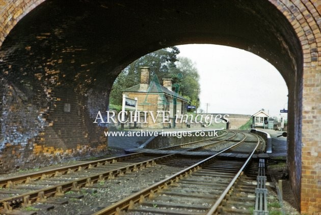
[[[228,45],[258,54],[281,72],[288,86],[296,62],[301,62],[295,33],[267,1],[154,1],[152,5],[150,1],[45,1],[4,41],[0,56],[14,71],[5,75],[20,79],[59,70],[60,84],[80,81],[110,89],[132,60],[189,43]],[[2,64],[5,70],[7,66]]]

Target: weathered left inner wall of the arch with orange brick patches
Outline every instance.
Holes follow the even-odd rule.
[[[104,84],[110,86],[110,78],[96,75],[103,70],[96,54],[82,55],[84,48],[68,45],[65,23],[60,24],[51,31],[39,27],[30,37],[13,29],[2,44],[0,173],[99,156],[107,149],[107,128],[93,121],[108,107],[110,88]]]

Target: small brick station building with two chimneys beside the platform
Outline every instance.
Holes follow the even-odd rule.
[[[163,78],[163,85],[161,85],[156,76],[149,82],[149,72],[149,67],[141,67],[140,83],[127,88],[123,92],[123,97],[130,100],[137,100],[137,111],[140,111],[138,127],[186,127],[186,123],[184,122],[185,118],[182,119],[182,115],[186,114],[188,100],[178,94],[179,85],[172,84],[171,78]],[[148,114],[146,114],[147,117],[144,111],[148,112]],[[159,114],[156,118],[157,111]],[[151,115],[151,112],[153,115]],[[163,114],[165,114],[165,118]],[[129,114],[128,116],[130,117]],[[147,121],[147,123],[143,123],[144,120]]]

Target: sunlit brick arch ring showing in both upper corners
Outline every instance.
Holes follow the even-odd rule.
[[[45,0],[2,1],[0,4],[0,46],[16,23]],[[321,3],[312,1],[269,0],[295,29],[304,50],[304,63],[318,66],[320,51]]]

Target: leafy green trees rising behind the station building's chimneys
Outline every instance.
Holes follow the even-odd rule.
[[[150,68],[150,79],[157,75],[162,78],[173,78],[173,83],[180,85],[179,94],[190,100],[191,105],[199,106],[199,75],[195,65],[189,58],[178,57],[176,46],[159,49],[146,54],[128,65],[114,82],[110,103],[122,104],[122,92],[126,88],[140,83],[140,67]]]

